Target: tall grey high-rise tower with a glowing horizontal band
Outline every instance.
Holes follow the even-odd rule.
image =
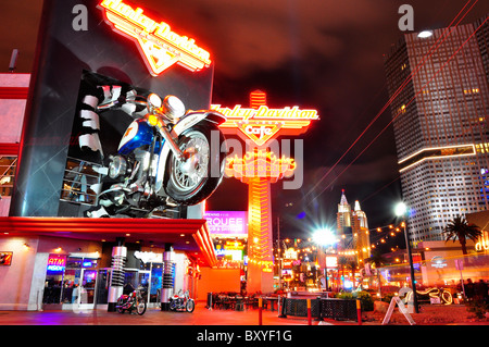
[[[414,243],[443,239],[442,231],[454,216],[489,207],[485,20],[405,34],[386,57],[390,97],[404,85],[391,113]]]

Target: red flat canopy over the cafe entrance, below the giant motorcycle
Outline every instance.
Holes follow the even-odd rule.
[[[88,218],[0,218],[1,236],[54,236],[95,241],[147,241],[155,247],[172,244],[202,265],[217,262],[205,220],[88,219]],[[8,233],[8,234],[5,234]]]

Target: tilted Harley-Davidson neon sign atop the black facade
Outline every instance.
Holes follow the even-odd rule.
[[[178,64],[191,72],[209,67],[211,54],[196,45],[193,38],[172,30],[165,22],[158,22],[133,9],[122,0],[103,0],[99,8],[113,29],[134,39],[151,75],[158,76]]]

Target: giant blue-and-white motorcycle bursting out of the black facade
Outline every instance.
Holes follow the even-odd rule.
[[[86,215],[148,218],[168,206],[209,198],[224,174],[227,149],[218,125],[226,117],[209,110],[186,112],[177,97],[162,100],[155,94],[102,102],[97,112],[127,104],[147,112],[134,112],[141,115],[126,129],[117,154],[110,157],[105,182],[111,185]]]

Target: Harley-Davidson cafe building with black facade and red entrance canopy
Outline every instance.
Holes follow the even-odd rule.
[[[33,74],[0,74],[0,310],[113,311],[129,285],[162,310],[179,289],[205,300],[199,283],[213,289],[205,283],[217,258],[203,205],[153,219],[84,216],[96,200],[101,153],[116,150],[131,120],[109,113],[82,124],[80,110],[90,83],[172,94],[188,109],[209,109],[213,62],[177,28],[154,41],[123,33],[140,25],[142,11],[125,16],[131,8],[121,0],[84,1],[87,30],[75,28],[78,5],[45,1]],[[165,39],[175,45],[170,60],[158,46]],[[82,150],[80,138],[91,151]]]

